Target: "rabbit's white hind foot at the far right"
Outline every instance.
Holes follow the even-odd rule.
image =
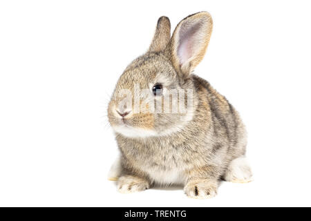
[[[253,180],[252,170],[245,157],[238,157],[229,164],[225,174],[228,182],[247,183]]]

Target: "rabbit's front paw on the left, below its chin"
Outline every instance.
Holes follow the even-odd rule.
[[[117,191],[120,193],[134,193],[149,189],[149,182],[140,177],[125,175],[117,181]]]

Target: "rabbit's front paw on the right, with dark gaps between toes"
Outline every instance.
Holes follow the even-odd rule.
[[[209,180],[189,182],[185,186],[185,193],[189,198],[208,199],[217,195],[218,183]]]

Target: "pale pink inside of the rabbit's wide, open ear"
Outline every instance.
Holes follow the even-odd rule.
[[[194,55],[194,48],[196,44],[199,44],[196,41],[196,35],[199,35],[200,27],[200,22],[195,24],[185,22],[180,27],[177,48],[177,56],[180,65],[185,64],[185,62]]]

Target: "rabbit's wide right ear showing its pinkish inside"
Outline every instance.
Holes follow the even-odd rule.
[[[212,27],[208,12],[198,12],[178,23],[169,45],[171,61],[178,73],[188,76],[203,59]]]

